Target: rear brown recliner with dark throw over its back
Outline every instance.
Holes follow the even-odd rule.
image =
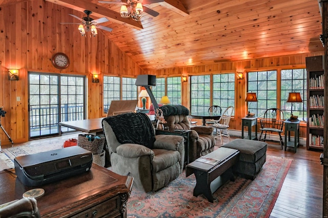
[[[170,132],[175,129],[191,130],[189,134],[189,161],[207,155],[214,151],[215,138],[213,127],[211,126],[190,126],[188,120],[189,109],[182,105],[163,105],[159,107],[163,111],[165,120],[164,126]]]

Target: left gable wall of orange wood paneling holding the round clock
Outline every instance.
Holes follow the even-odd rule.
[[[0,107],[7,111],[2,125],[14,142],[28,140],[28,71],[85,75],[88,81],[88,117],[103,115],[103,75],[136,76],[143,70],[122,53],[100,30],[96,37],[82,37],[71,25],[84,13],[43,0],[22,2],[0,10]],[[56,69],[51,57],[57,52],[68,55],[70,65]],[[8,69],[19,69],[19,80],[8,80]],[[92,83],[100,74],[100,83]],[[9,140],[0,130],[4,144]]]

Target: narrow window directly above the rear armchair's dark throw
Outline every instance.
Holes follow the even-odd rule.
[[[171,104],[181,104],[181,77],[167,78],[167,95]]]

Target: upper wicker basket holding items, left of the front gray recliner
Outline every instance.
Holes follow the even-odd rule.
[[[89,138],[91,141],[89,141]],[[77,146],[91,151],[92,154],[100,154],[103,152],[105,143],[105,137],[94,138],[94,135],[90,134],[79,134],[77,138]]]

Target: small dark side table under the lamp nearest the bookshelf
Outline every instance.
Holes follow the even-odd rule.
[[[293,147],[296,152],[297,147],[299,146],[299,123],[300,120],[288,120],[286,119],[285,123],[285,151],[287,147]],[[291,141],[291,131],[294,131],[294,141]],[[287,140],[288,135],[288,140]]]

